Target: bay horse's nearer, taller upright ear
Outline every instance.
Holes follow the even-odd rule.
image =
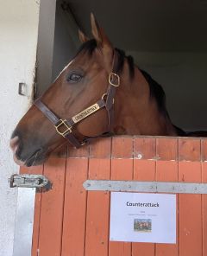
[[[109,38],[105,35],[102,28],[99,27],[95,16],[91,13],[91,32],[97,41],[97,46],[101,48],[112,48]]]

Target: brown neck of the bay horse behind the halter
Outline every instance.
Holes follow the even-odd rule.
[[[138,68],[134,78],[129,77],[129,67],[124,65],[121,85],[115,102],[116,134],[127,135],[176,135],[167,112],[160,112],[157,101],[150,97],[150,88]]]

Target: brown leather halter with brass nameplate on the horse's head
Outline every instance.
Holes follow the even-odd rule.
[[[97,112],[100,109],[105,107],[108,113],[108,131],[104,132],[100,136],[97,137],[105,137],[109,135],[112,129],[113,120],[114,120],[114,97],[116,93],[116,87],[120,85],[120,77],[116,74],[117,70],[117,62],[118,62],[118,52],[114,51],[113,58],[113,71],[109,74],[109,86],[107,92],[103,94],[102,98],[99,99],[92,106],[87,107],[82,112],[78,112],[77,115],[73,116],[69,119],[61,119],[54,112],[52,112],[44,103],[42,103],[41,98],[36,99],[34,101],[34,106],[36,106],[54,125],[56,131],[64,138],[66,138],[70,144],[72,144],[75,148],[79,148],[85,143],[89,142],[94,137],[87,137],[82,142],[78,141],[72,134],[73,127],[81,122],[83,119],[91,116],[94,112]],[[95,137],[95,138],[97,138]]]

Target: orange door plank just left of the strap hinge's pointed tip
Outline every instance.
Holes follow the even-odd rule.
[[[89,147],[68,149],[61,256],[84,255]]]

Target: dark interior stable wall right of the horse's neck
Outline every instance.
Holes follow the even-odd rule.
[[[129,52],[160,83],[173,120],[185,131],[207,131],[207,53]]]

